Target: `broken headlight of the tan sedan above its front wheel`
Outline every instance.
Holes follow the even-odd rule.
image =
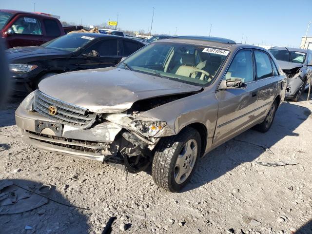
[[[154,137],[166,126],[165,121],[141,121],[134,120],[135,127],[145,137]]]

